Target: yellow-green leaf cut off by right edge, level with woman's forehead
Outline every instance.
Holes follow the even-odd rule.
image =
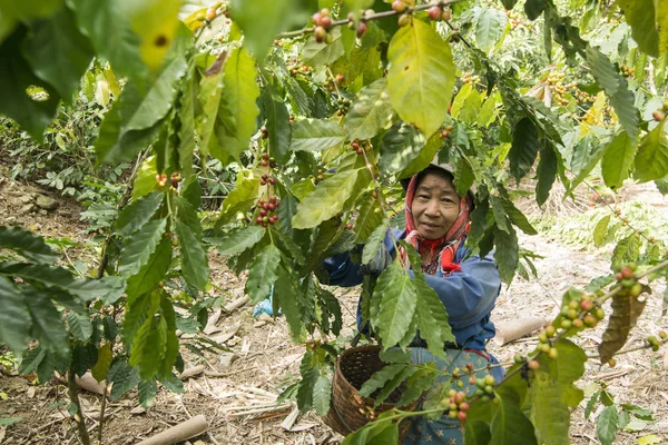
[[[668,138],[664,119],[640,141],[635,160],[633,177],[641,182],[661,179],[668,175]]]

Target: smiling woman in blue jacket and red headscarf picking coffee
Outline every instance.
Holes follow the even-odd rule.
[[[466,258],[470,249],[463,244],[469,230],[473,197],[470,192],[464,197],[459,196],[452,181],[453,176],[448,166],[430,165],[407,184],[405,229],[389,233],[379,254],[369,265],[354,264],[346,253],[328,258],[324,266],[331,285],[358,285],[363,274],[380,275],[396,256],[405,257],[405,251],[401,251],[401,248],[399,253],[395,251],[392,235],[409,241],[420,253],[426,284],[436,291],[448,309],[449,323],[456,340],[456,344],[444,345],[448,359],[442,360],[430,354],[418,336],[411,343],[413,363],[434,362],[443,370],[472,363],[478,369],[490,363],[498,364],[485,352],[485,344],[494,336],[490,313],[499,296],[501,279],[491,257]],[[358,312],[357,325],[360,323]],[[492,368],[497,380],[503,374],[503,368]],[[442,380],[449,380],[449,377],[443,377]],[[464,390],[471,393],[474,387],[469,385]],[[404,441],[404,444],[460,443],[463,441],[458,421],[446,417],[439,421],[418,417]]]

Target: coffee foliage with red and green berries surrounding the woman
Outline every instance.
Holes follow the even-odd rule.
[[[517,230],[537,233],[513,204],[521,180],[533,179],[538,205],[557,182],[571,195],[599,170],[611,189],[627,179],[667,188],[662,3],[185,3],[0,4],[0,113],[41,141],[59,103],[79,92],[96,97],[110,107],[92,142],[97,165],[137,166],[92,278],[55,265],[37,235],[0,229],[0,247],[11,254],[0,264],[0,342],[24,355],[21,370],[40,382],[53,370],[68,375],[85,444],[75,375],[91,369],[112,383],[111,398],[138,386],[150,403],[157,382],[179,389],[175,332],[202,327],[215,304],[209,249],[229,257],[237,274],[248,270],[253,301],[273,291],[274,312],[306,346],[302,380],[288,393],[324,415],[338,352],[326,338],[342,322],[321,285],[322,261],[350,250],[362,263],[373,258],[387,228],[401,227],[393,218],[399,180],[435,156],[454,166],[460,194],[477,186],[466,244],[481,256],[493,249],[505,283],[518,267],[527,271]],[[108,72],[95,71],[107,63]],[[92,96],[91,76],[107,82]],[[236,175],[203,224],[200,178],[212,162]],[[608,224],[597,225],[595,238]],[[380,402],[407,380],[399,406],[443,377],[411,365],[401,349],[418,329],[438,356],[452,340],[420,258],[409,259],[413,277],[394,264],[362,289],[362,316],[389,366],[361,392],[380,390]],[[612,274],[567,291],[537,349],[517,357],[502,382],[488,368],[452,369],[452,384],[436,385],[422,411],[372,411],[374,422],[344,443],[396,442],[397,419],[444,413],[460,419],[466,443],[569,443],[587,360],[572,338],[607,320],[601,362],[623,353],[648,284],[666,277],[667,265],[662,240],[631,233],[617,243]],[[189,318],[174,309],[184,294],[196,301]],[[665,342],[652,337],[647,347]],[[452,389],[463,379],[477,389]]]

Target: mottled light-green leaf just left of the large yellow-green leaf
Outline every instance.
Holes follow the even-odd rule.
[[[345,117],[350,140],[371,139],[392,121],[393,109],[387,93],[387,80],[381,78],[364,87]]]

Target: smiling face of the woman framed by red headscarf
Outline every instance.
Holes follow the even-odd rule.
[[[420,235],[425,239],[439,239],[456,220],[460,197],[449,178],[429,172],[415,187],[411,211]]]

